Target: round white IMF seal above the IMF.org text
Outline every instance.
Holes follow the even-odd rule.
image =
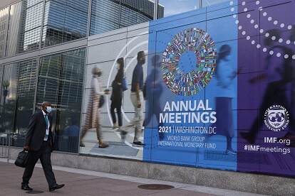
[[[272,131],[284,130],[289,124],[289,113],[281,105],[273,105],[264,113],[264,124]]]

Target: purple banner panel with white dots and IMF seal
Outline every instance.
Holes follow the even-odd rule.
[[[239,1],[237,170],[295,176],[295,1]]]

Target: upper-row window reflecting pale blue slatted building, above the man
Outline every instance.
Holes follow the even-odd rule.
[[[88,1],[46,1],[42,46],[86,37]]]

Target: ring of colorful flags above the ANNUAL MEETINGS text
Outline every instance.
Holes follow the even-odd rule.
[[[194,53],[196,63],[191,70],[179,66],[185,53]],[[180,96],[192,96],[204,89],[216,69],[217,49],[214,40],[200,28],[177,33],[162,55],[162,78],[167,87]]]

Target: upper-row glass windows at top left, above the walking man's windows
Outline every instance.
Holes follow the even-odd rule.
[[[88,6],[89,1],[23,0],[1,9],[0,58],[86,38]]]

